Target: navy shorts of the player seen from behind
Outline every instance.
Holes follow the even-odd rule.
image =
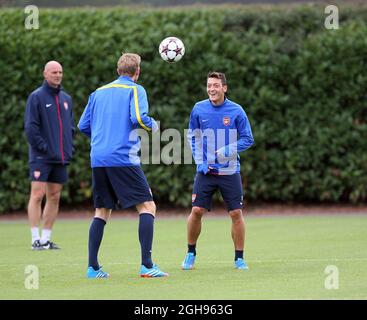
[[[94,208],[126,209],[153,201],[140,166],[95,167],[92,172]]]

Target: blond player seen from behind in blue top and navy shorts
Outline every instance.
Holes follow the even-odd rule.
[[[87,278],[108,278],[98,263],[104,226],[112,209],[135,206],[139,212],[141,246],[140,276],[166,277],[152,262],[152,242],[156,206],[148,181],[140,167],[140,139],[135,129],[158,130],[148,116],[148,99],[136,81],[141,58],[125,53],[117,62],[117,80],[94,91],[78,127],[91,138],[93,199],[96,209],[89,230]]]

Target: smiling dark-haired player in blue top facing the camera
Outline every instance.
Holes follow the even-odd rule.
[[[245,111],[227,99],[226,92],[225,75],[210,72],[207,76],[209,99],[196,103],[190,115],[188,139],[197,173],[187,222],[188,252],[181,265],[183,270],[194,267],[201,218],[210,211],[212,196],[218,189],[232,218],[234,266],[248,270],[244,260],[245,223],[238,153],[250,148],[254,139]]]

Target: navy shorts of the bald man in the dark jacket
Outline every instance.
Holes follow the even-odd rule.
[[[68,180],[66,165],[54,163],[31,162],[29,164],[31,181],[64,184]]]

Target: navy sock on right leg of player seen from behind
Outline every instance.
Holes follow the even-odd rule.
[[[150,269],[152,262],[152,243],[154,230],[154,216],[150,213],[139,215],[139,241],[141,247],[141,264]]]

